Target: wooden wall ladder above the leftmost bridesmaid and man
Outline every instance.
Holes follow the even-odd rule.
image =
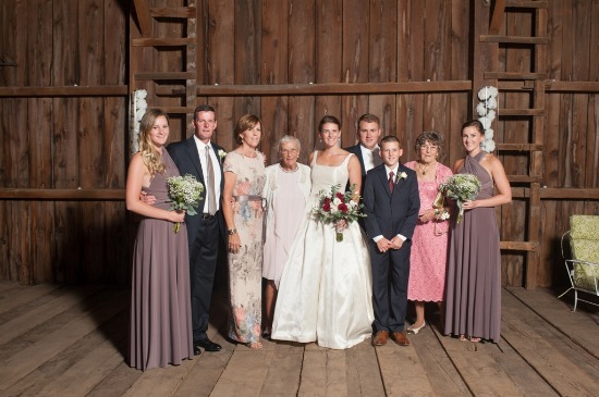
[[[150,8],[150,0],[134,0],[135,15],[137,18],[138,32],[133,32],[130,41],[130,94],[136,89],[144,88],[148,91],[148,98],[154,106],[160,106],[169,114],[184,114],[186,125],[193,119],[193,111],[197,103],[197,37],[196,26],[198,21],[198,9],[196,0],[187,0],[186,7],[160,7]],[[183,26],[181,37],[166,37],[166,28],[161,28],[161,21],[180,21]],[[154,52],[143,52],[149,48]],[[179,71],[156,71],[160,62],[156,59],[161,49],[182,48],[181,70]],[[139,53],[142,51],[143,53]],[[147,60],[143,62],[142,60]],[[144,66],[151,65],[154,71],[144,70]],[[174,84],[175,86],[164,86]],[[182,88],[184,87],[184,92]],[[181,106],[163,106],[160,95],[170,97],[183,97]]]

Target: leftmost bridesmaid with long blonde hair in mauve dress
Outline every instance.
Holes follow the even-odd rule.
[[[139,131],[139,152],[131,159],[126,181],[126,208],[143,216],[133,250],[129,359],[145,371],[181,364],[194,357],[194,346],[185,213],[170,211],[167,195],[167,178],[179,175],[164,149],[167,113],[148,110]],[[156,197],[154,204],[140,200],[142,191]],[[175,223],[181,223],[179,233]]]

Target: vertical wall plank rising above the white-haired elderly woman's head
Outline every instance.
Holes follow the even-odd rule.
[[[261,23],[261,83],[284,84],[288,77],[288,24],[289,2],[262,0]],[[262,141],[260,148],[269,163],[277,162],[277,142],[288,132],[288,98],[266,97],[261,103]]]

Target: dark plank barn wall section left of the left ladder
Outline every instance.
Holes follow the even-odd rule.
[[[118,0],[0,2],[0,86],[125,83],[129,7]],[[0,187],[125,187],[126,98],[0,99]],[[0,200],[0,278],[123,282],[124,201]]]

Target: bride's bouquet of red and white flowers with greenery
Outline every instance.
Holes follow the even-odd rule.
[[[366,215],[360,211],[364,204],[359,203],[359,201],[354,201],[356,185],[354,184],[345,193],[339,191],[340,189],[341,185],[335,185],[331,187],[329,194],[320,190],[318,194],[319,204],[314,209],[313,213],[322,223],[334,223],[335,239],[343,241],[343,229],[339,226],[339,222],[345,221],[350,224]]]

